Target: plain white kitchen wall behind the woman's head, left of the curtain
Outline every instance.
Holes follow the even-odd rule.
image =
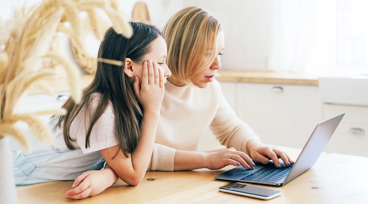
[[[33,5],[40,0],[28,0]],[[118,0],[120,8],[131,17],[138,0]],[[220,19],[225,33],[225,50],[222,55],[223,69],[266,70],[272,50],[273,14],[275,2],[269,0],[143,0],[149,10],[153,25],[162,29],[176,11],[187,6],[198,6]],[[24,0],[1,1],[1,17],[8,18],[15,7]],[[91,40],[90,40],[91,41]],[[91,55],[97,53],[98,45],[89,43]],[[97,47],[96,47],[97,46]]]

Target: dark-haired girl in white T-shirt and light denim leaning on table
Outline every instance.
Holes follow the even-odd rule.
[[[82,102],[67,99],[62,106],[67,114],[52,118],[56,140],[51,147],[18,155],[13,165],[16,185],[74,180],[85,171],[102,169],[105,161],[124,182],[141,182],[171,73],[165,65],[164,35],[151,25],[131,25],[130,39],[107,30],[95,78],[84,89]]]

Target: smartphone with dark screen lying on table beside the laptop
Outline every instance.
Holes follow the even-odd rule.
[[[258,198],[262,200],[269,200],[271,198],[280,196],[282,193],[280,190],[268,189],[258,186],[250,186],[241,183],[230,183],[229,185],[220,187],[219,191],[237,194],[240,196]]]

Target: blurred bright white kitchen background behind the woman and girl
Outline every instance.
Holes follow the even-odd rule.
[[[2,0],[0,40],[9,34],[7,28],[18,15],[18,8],[39,2]],[[187,6],[202,7],[215,15],[225,34],[218,80],[238,117],[263,142],[302,148],[317,123],[346,112],[325,150],[368,156],[367,0],[117,0],[117,3],[125,18],[145,21],[159,29],[171,15]],[[99,14],[100,26],[107,26],[109,22],[103,22],[106,15]],[[86,18],[86,14],[81,13],[80,17]],[[56,38],[51,49],[75,61],[87,83],[100,40],[93,36],[91,28],[83,29],[85,48],[78,53],[67,35]],[[57,69],[52,62],[45,62],[45,66]],[[65,86],[62,71],[59,77],[56,86],[57,83]],[[57,88],[56,99],[49,100],[35,92],[26,99],[25,109],[37,109],[40,104],[60,107],[68,93],[66,88]],[[208,132],[199,150],[219,145]]]

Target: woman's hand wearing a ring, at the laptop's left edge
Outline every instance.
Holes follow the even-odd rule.
[[[232,155],[231,155],[232,154]],[[230,159],[231,156],[231,159]],[[218,152],[207,154],[207,168],[209,170],[219,170],[227,165],[240,166],[245,169],[253,169],[255,164],[252,159],[244,152],[239,152],[233,147]]]

